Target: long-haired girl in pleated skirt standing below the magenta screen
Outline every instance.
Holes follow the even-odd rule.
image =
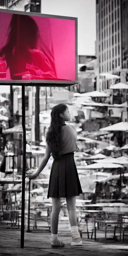
[[[51,246],[64,247],[65,243],[58,238],[58,221],[61,202],[65,197],[71,225],[71,246],[82,245],[77,228],[76,196],[82,193],[77,168],[74,162],[74,152],[78,151],[77,132],[73,125],[66,125],[70,120],[70,113],[65,104],[58,104],[52,108],[51,123],[46,136],[46,152],[38,170],[29,174],[30,179],[35,179],[46,166],[52,155],[54,158],[47,198],[52,198],[51,212]]]

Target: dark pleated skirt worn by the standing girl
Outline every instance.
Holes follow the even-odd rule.
[[[50,172],[48,196],[70,197],[82,194],[74,153],[62,155],[54,159]]]

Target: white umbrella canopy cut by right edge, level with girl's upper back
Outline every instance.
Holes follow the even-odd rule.
[[[101,128],[100,131],[128,131],[128,123],[120,122],[117,124]]]

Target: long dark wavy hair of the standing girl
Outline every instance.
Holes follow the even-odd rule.
[[[61,158],[61,129],[62,129],[62,118],[60,114],[64,113],[67,109],[65,104],[58,104],[51,110],[51,122],[49,130],[46,135],[46,143],[51,147],[51,155],[53,158]]]

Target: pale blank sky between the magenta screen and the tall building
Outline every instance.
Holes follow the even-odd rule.
[[[41,13],[78,18],[78,55],[95,55],[95,0],[41,0]],[[0,86],[0,93],[9,86]]]

